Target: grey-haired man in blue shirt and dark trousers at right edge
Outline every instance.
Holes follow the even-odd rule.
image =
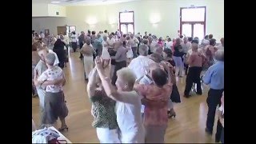
[[[222,92],[224,91],[224,51],[218,50],[215,58],[218,62],[210,66],[202,78],[206,85],[210,85],[206,100],[208,105],[206,132],[208,134],[213,132],[216,107],[221,105]]]

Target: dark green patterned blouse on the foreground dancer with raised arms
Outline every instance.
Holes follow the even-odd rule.
[[[90,101],[93,103],[94,115],[92,126],[110,130],[117,129],[117,115],[114,112],[115,101],[107,97],[105,91],[101,90],[96,90]]]

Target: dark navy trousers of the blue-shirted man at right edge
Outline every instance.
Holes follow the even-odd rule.
[[[221,98],[222,98],[222,90],[214,90],[210,89],[208,91],[208,98],[206,99],[207,105],[208,105],[208,114],[207,114],[207,120],[206,120],[206,128],[213,131],[214,127],[214,118],[215,118],[215,112],[216,107],[221,106]]]

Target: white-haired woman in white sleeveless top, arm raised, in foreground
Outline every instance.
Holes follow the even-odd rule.
[[[117,72],[116,90],[106,77],[102,68],[102,59],[96,58],[98,75],[101,78],[102,86],[106,95],[116,101],[116,114],[120,139],[122,143],[144,143],[144,128],[140,113],[141,98],[134,91],[136,77],[129,68],[122,68]]]

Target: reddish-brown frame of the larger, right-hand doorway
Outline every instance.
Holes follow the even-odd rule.
[[[197,9],[197,8],[204,8],[205,9],[205,18],[204,18],[204,21],[193,21],[193,22],[184,22],[182,21],[182,10],[183,9]],[[204,32],[204,36],[206,35],[206,6],[193,6],[193,7],[181,7],[180,8],[180,16],[179,16],[179,19],[180,19],[180,27],[179,27],[179,31],[180,31],[180,34],[182,34],[182,25],[183,24],[191,24],[191,37],[194,38],[194,24],[202,24],[203,25],[203,32]]]

